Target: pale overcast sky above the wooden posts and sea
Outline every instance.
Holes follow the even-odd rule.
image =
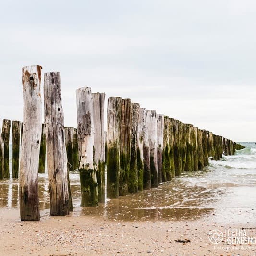
[[[234,141],[256,141],[255,0],[9,0],[0,3],[0,118],[23,118],[21,68],[75,90],[131,98]],[[43,89],[42,89],[43,91]]]

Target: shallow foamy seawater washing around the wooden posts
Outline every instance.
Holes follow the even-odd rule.
[[[204,170],[185,172],[156,189],[118,199],[98,207],[80,207],[78,171],[70,172],[73,215],[101,216],[117,221],[197,220],[256,223],[256,145],[221,161],[210,161]],[[0,207],[17,208],[18,179],[0,181]],[[39,174],[40,209],[49,209],[48,175]]]

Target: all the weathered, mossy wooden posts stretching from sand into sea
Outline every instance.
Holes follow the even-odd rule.
[[[107,197],[117,198],[158,187],[183,171],[202,169],[208,164],[208,157],[219,160],[223,151],[232,155],[235,149],[242,148],[222,136],[159,115],[155,110],[140,108],[138,103],[120,97],[108,98],[107,132],[104,132],[105,93],[92,93],[89,87],[76,90],[77,129],[65,128],[59,72],[44,75],[45,124],[42,125],[41,69],[37,65],[22,69],[20,161],[13,151],[13,177],[19,175],[20,181],[21,220],[40,219],[38,171],[45,169],[45,156],[50,215],[67,215],[73,209],[69,171],[74,169],[80,174],[81,206],[97,206],[105,201],[105,163]],[[5,120],[0,133],[0,171],[6,178],[10,125]],[[12,122],[12,140],[15,140],[12,144],[17,152],[20,139],[15,131],[20,131],[19,127],[19,121]]]

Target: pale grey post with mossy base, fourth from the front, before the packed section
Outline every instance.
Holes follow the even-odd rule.
[[[98,201],[105,202],[105,140],[104,102],[105,93],[93,93],[94,161],[97,166]]]

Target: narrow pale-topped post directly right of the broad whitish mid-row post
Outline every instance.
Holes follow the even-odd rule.
[[[158,183],[162,183],[162,160],[163,160],[163,144],[164,144],[164,115],[157,115],[158,124]]]

